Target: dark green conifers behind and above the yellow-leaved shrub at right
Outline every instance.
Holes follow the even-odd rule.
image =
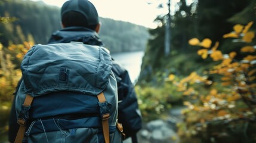
[[[151,82],[155,84],[155,75],[158,72],[170,74],[177,71],[178,73],[175,74],[188,74],[191,70],[194,70],[193,67],[200,72],[209,68],[211,66],[210,60],[206,62],[195,55],[190,55],[196,52],[196,49],[190,46],[187,41],[193,37],[198,39],[209,38],[212,43],[219,41],[221,43],[220,49],[224,52],[234,50],[233,45],[238,50],[243,43],[223,41],[222,36],[232,30],[233,23],[240,17],[237,14],[243,13],[243,17],[248,15],[247,21],[243,21],[243,23],[248,23],[249,17],[252,17],[252,15],[255,17],[255,10],[251,10],[251,8],[254,8],[252,5],[255,5],[255,0],[199,0],[198,3],[194,2],[192,5],[186,5],[186,1],[180,1],[178,5],[180,9],[172,15],[171,20],[171,54],[168,57],[164,56],[165,17],[159,16],[156,19],[161,23],[159,27],[149,31],[152,39],[149,39],[143,57],[138,84]],[[228,20],[233,17],[236,17],[236,20]],[[256,29],[255,26],[252,29]],[[174,62],[179,56],[182,58],[184,55],[187,56],[187,60],[180,61],[180,63]],[[192,64],[193,67],[186,63]],[[184,66],[177,66],[178,64]],[[186,67],[192,67],[192,69],[187,71],[189,68]]]

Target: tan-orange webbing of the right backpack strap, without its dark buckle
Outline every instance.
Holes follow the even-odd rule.
[[[103,94],[103,92],[101,92],[98,96],[98,101],[100,102],[106,102],[106,98]],[[103,135],[104,135],[104,140],[105,143],[109,143],[109,117],[110,114],[104,114],[103,115],[103,119],[102,119],[102,128],[103,128]]]

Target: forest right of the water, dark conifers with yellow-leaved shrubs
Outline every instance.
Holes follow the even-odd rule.
[[[182,107],[178,137],[168,142],[256,142],[256,1],[177,5],[168,55],[166,14],[149,30],[154,39],[136,84],[144,120],[168,122],[169,111]]]

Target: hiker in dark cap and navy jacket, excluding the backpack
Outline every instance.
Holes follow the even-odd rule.
[[[82,42],[88,45],[104,46],[103,41],[101,41],[98,35],[101,26],[98,13],[90,1],[66,1],[61,7],[61,23],[63,29],[54,32],[48,44]],[[122,123],[126,137],[131,137],[132,142],[135,143],[138,142],[136,134],[142,128],[137,95],[135,94],[128,71],[116,63],[114,59],[112,60],[112,71],[118,84],[118,122]],[[17,89],[18,86],[19,84]],[[14,142],[18,130],[15,104],[11,108],[9,126],[8,138],[10,142]]]

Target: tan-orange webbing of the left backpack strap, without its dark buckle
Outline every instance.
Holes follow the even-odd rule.
[[[33,101],[33,97],[30,95],[26,95],[26,98],[24,100],[23,106],[29,107]],[[16,135],[14,143],[21,143],[24,138],[24,133],[26,130],[26,120],[24,119],[18,119],[18,125],[20,125],[20,128],[18,128],[18,133]]]

